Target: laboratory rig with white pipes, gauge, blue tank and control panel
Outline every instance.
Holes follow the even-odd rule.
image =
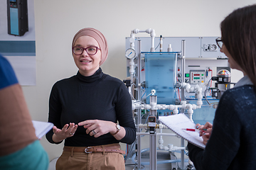
[[[150,38],[135,37],[138,33],[148,33]],[[168,161],[173,161],[172,166],[180,162],[183,169],[184,162],[188,162],[183,154],[186,150],[185,142],[181,138],[180,146],[164,146],[163,136],[177,136],[171,132],[163,132],[166,127],[158,122],[158,116],[185,113],[192,121],[201,120],[204,115],[197,111],[206,108],[211,114],[203,121],[213,120],[215,108],[206,103],[203,91],[212,87],[213,74],[220,68],[228,68],[228,58],[220,53],[215,37],[160,36],[159,45],[156,47],[155,38],[156,33],[151,28],[134,29],[130,37],[126,38],[128,78],[124,82],[127,82],[133,99],[132,110],[137,124],[137,147],[132,160],[134,169],[141,169],[149,164],[149,169],[156,170],[157,164],[160,164],[156,158],[159,150],[168,151],[170,154],[178,151],[181,159],[176,162]],[[206,96],[210,96],[209,90],[206,91]],[[208,98],[212,103],[218,103],[218,99]],[[142,132],[143,130],[146,132]],[[142,149],[144,136],[149,136],[149,149]],[[159,147],[156,147],[157,137]],[[144,150],[149,151],[149,162],[142,161]]]

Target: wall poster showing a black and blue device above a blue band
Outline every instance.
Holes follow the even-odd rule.
[[[36,86],[34,0],[0,1],[0,54],[21,86]]]

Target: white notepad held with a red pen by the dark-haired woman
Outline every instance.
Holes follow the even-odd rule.
[[[184,113],[177,115],[159,116],[159,121],[174,131],[177,135],[183,137],[188,142],[196,145],[202,149],[206,148],[203,144],[203,138],[199,136],[198,132],[186,131],[186,128],[196,128],[193,123]]]

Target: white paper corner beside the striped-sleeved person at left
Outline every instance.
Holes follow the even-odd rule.
[[[38,139],[41,139],[43,135],[46,135],[46,133],[53,128],[53,123],[41,122],[36,120],[32,120],[32,123],[33,127],[36,130],[36,137],[38,137]]]

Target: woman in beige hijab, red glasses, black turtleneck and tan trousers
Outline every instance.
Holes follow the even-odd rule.
[[[73,38],[72,53],[78,73],[57,81],[50,93],[48,121],[55,126],[46,137],[65,140],[56,169],[125,169],[119,142],[132,144],[136,137],[132,101],[124,83],[100,68],[107,40],[84,28]]]

